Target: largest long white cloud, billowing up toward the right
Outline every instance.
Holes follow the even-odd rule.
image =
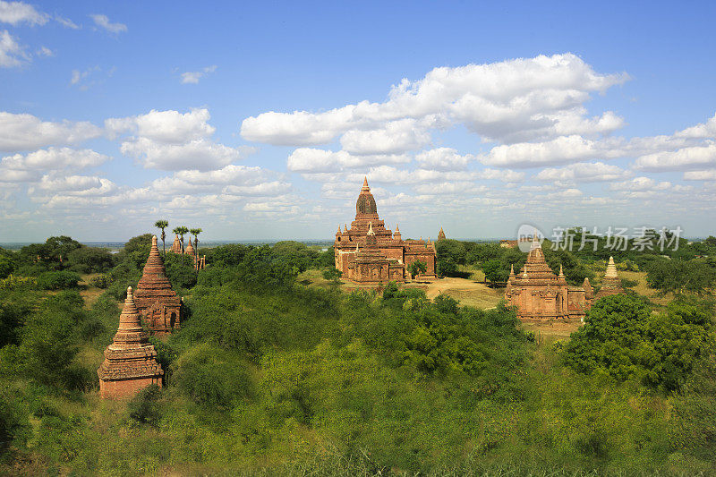
[[[315,114],[263,113],[245,119],[241,133],[249,141],[319,145],[339,134],[430,116],[435,126],[465,124],[483,138],[505,142],[553,137],[564,130],[610,132],[621,125],[618,116],[608,112],[586,120],[582,104],[591,92],[627,79],[626,74],[596,73],[571,54],[442,67],[420,81],[401,81],[384,103],[362,101]]]

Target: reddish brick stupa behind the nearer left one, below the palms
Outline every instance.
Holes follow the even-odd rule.
[[[166,268],[157,246],[157,236],[151,238],[149,259],[144,266],[136,293],[137,309],[149,328],[158,335],[179,328],[182,299],[172,290]]]

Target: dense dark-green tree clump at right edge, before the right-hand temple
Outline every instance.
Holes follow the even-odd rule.
[[[676,390],[714,352],[713,303],[686,298],[652,313],[643,299],[612,295],[592,305],[563,354],[568,366]]]

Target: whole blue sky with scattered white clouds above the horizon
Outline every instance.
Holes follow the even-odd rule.
[[[0,242],[714,234],[715,13],[0,1]]]

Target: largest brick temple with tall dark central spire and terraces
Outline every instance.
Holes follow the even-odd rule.
[[[359,285],[436,277],[435,244],[430,241],[403,240],[397,226],[395,233],[391,232],[378,216],[367,178],[355,202],[355,220],[351,222],[350,228],[344,226],[342,231],[338,226],[333,247],[336,268],[343,273],[343,277]],[[426,271],[411,277],[407,267],[416,260],[425,263]]]

